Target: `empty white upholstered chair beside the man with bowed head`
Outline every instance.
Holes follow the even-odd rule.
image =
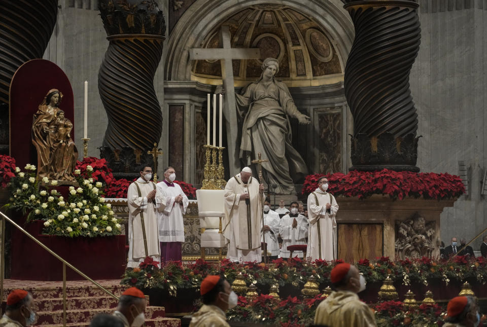
[[[204,249],[225,247],[225,238],[222,234],[222,218],[225,211],[224,190],[196,190],[198,200],[198,215],[201,227],[201,259],[204,260]]]

